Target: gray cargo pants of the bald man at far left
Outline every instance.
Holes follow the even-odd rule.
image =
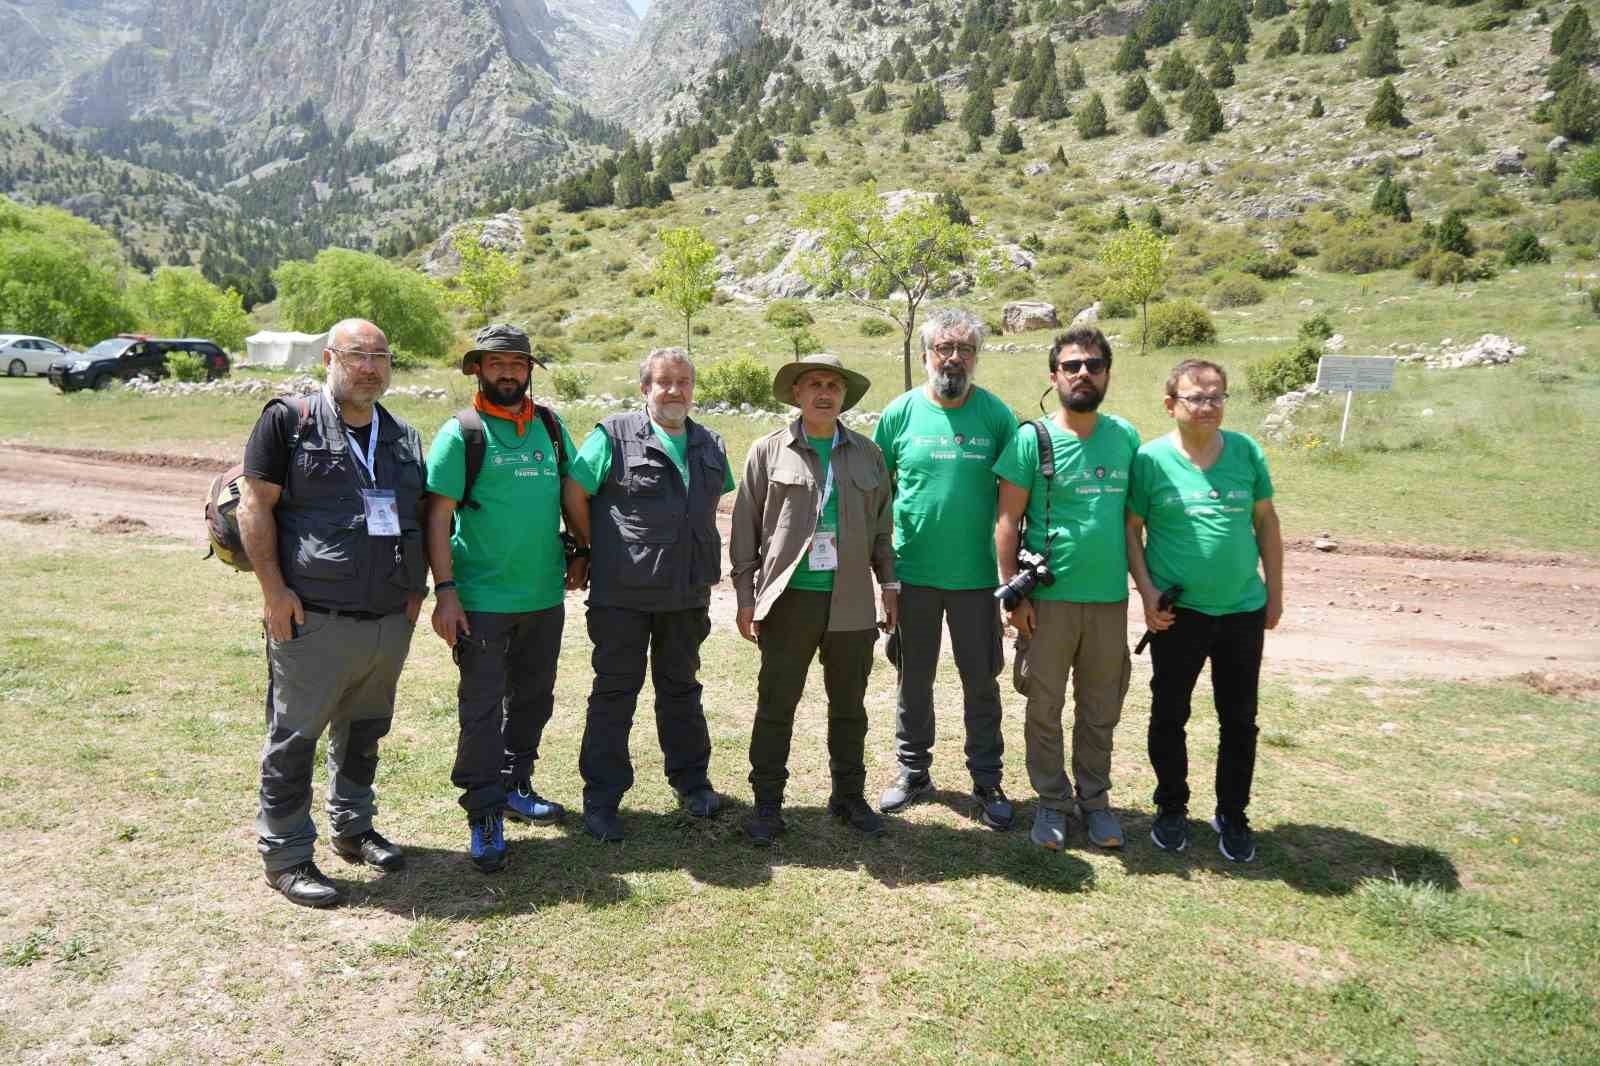
[[[403,613],[363,621],[306,611],[291,640],[267,639],[267,743],[256,815],[256,847],[267,872],[312,856],[310,775],[323,730],[334,836],[373,828],[378,741],[394,719],[411,632]]]

